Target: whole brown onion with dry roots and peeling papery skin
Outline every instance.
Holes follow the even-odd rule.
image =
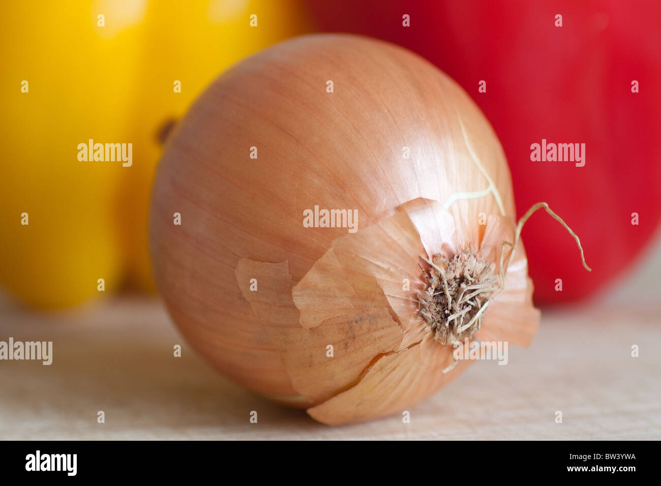
[[[325,210],[346,212],[329,227]],[[169,312],[223,374],[352,423],[458,376],[461,339],[531,342],[514,214],[500,143],[456,83],[403,48],[312,35],[195,102],[157,169],[150,243]]]

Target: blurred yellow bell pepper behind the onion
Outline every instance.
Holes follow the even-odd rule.
[[[152,288],[159,131],[223,69],[305,32],[295,0],[21,0],[0,12],[0,286],[42,308],[127,278]],[[130,165],[85,161],[89,140],[131,143]]]

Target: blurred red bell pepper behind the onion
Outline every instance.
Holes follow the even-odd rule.
[[[508,157],[518,216],[548,202],[592,266],[560,225],[533,216],[523,239],[537,303],[584,298],[631,265],[661,217],[661,2],[303,2],[321,30],[418,52],[479,104]],[[585,165],[532,161],[543,139],[585,143]]]

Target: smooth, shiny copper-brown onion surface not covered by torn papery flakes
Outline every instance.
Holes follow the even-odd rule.
[[[488,194],[448,210],[481,235],[481,213],[515,217],[508,165],[477,105],[423,58],[370,38],[314,34],[215,79],[169,139],[151,199],[155,281],[184,337],[238,384],[295,406],[321,403],[293,385],[265,329],[272,323],[245,298],[237,268],[286,262],[295,286],[348,235],[305,227],[303,212],[315,206],[358,210],[360,233],[416,198],[443,204],[484,190],[460,123],[502,204]]]

